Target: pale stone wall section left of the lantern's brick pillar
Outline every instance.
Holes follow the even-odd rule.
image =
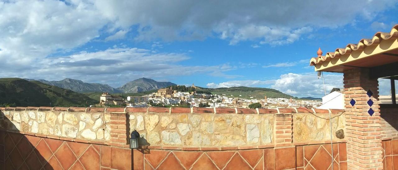
[[[87,110],[86,110],[87,109]],[[17,107],[0,114],[0,129],[42,136],[109,141],[105,108]]]

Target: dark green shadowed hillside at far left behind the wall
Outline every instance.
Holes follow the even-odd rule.
[[[84,94],[20,78],[0,78],[0,106],[89,106],[98,101]]]

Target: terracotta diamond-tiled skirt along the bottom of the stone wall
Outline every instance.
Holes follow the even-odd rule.
[[[383,141],[385,167],[398,157],[395,152],[398,147],[395,150],[393,147],[397,144],[398,140]],[[345,143],[334,144],[333,149],[334,169],[347,169]],[[328,170],[332,152],[327,144],[230,151],[139,149],[132,152],[0,131],[0,153],[3,153],[0,170]]]

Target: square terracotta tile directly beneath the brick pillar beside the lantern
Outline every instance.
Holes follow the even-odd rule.
[[[131,170],[131,149],[111,147],[111,168],[118,170]]]

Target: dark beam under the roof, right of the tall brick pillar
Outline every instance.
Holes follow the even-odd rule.
[[[369,78],[388,78],[391,76],[398,76],[397,68],[398,62],[369,68]]]

